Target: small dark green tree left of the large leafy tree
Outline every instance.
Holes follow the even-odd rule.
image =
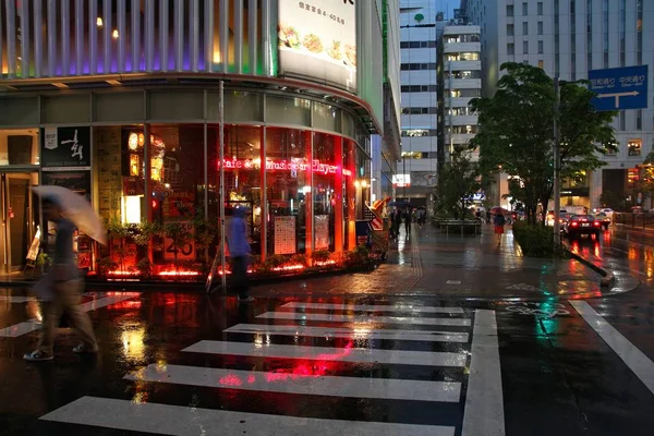
[[[438,182],[438,197],[441,209],[457,211],[461,218],[471,204],[473,194],[480,190],[477,162],[470,158],[470,149],[455,147],[450,161],[444,166]]]

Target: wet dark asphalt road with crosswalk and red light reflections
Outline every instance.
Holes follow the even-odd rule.
[[[0,434],[652,435],[650,238],[581,241],[645,281],[586,301],[89,293],[99,355],[40,364],[0,290]]]

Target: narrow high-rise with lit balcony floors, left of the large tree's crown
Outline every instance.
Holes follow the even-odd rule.
[[[450,22],[438,44],[438,164],[456,147],[465,146],[477,132],[470,100],[482,95],[480,26]],[[479,160],[479,150],[470,154]]]

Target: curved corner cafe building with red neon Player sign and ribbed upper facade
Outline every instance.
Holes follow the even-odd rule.
[[[0,26],[5,271],[40,225],[32,185],[75,190],[108,220],[190,226],[218,221],[221,165],[254,254],[354,247],[382,133],[375,2],[7,0]]]

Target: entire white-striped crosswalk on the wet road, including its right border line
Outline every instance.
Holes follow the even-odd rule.
[[[190,343],[180,362],[124,374],[153,386],[146,402],[83,397],[41,420],[166,435],[502,436],[499,370],[494,311],[291,302]],[[169,404],[157,387],[261,393],[272,404],[230,408],[227,393],[218,408]],[[283,396],[331,407],[312,416],[276,405]],[[427,407],[432,421],[385,412],[395,402]],[[335,412],[340,403],[356,404],[352,419]]]

